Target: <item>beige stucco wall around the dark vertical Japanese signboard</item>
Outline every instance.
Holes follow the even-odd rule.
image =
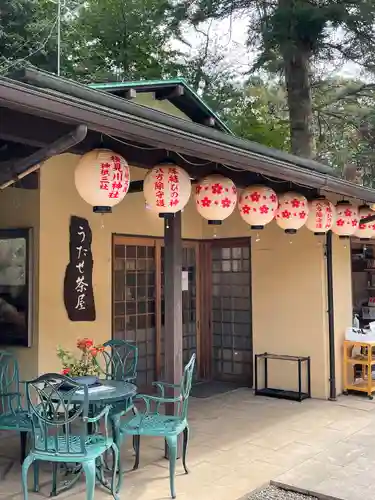
[[[39,370],[55,371],[58,344],[74,348],[78,337],[96,342],[111,338],[111,241],[113,233],[162,236],[163,221],[146,209],[143,193],[132,194],[113,209],[111,215],[94,214],[78,195],[74,169],[78,156],[65,154],[46,162],[41,169],[40,315]],[[146,170],[131,169],[131,179],[142,179]],[[71,322],[63,302],[63,280],[69,254],[70,216],[85,217],[93,233],[93,286],[97,319]],[[202,221],[190,203],[182,216],[184,238],[201,238]]]

